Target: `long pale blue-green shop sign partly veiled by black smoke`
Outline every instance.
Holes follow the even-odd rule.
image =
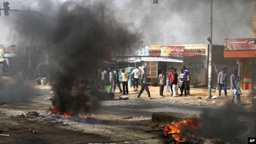
[[[111,50],[112,57],[118,56],[148,56],[148,46],[114,47]]]

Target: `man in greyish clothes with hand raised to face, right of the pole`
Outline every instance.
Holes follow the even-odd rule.
[[[242,94],[239,86],[241,77],[237,75],[238,71],[234,70],[234,74],[230,76],[231,102],[234,103],[234,97],[237,96],[237,103],[240,104],[240,95]]]

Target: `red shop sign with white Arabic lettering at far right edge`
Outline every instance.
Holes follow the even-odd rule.
[[[252,40],[254,40],[254,38],[240,38],[240,39],[224,40],[224,51],[256,50],[256,46]]]

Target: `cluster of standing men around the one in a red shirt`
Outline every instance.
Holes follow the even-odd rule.
[[[180,69],[180,76],[177,74],[176,68],[169,68],[167,72],[162,71],[161,74],[158,76],[158,84],[160,86],[160,97],[163,98],[163,92],[164,92],[164,85],[166,83],[166,92],[172,91],[172,96],[177,97],[178,96],[178,88],[180,88],[180,96],[187,96],[187,94],[190,94],[190,78],[191,73],[186,69],[186,66],[183,66],[182,69]]]

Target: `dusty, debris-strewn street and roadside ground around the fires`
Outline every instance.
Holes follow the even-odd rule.
[[[88,115],[85,120],[48,116],[46,112],[51,102],[46,97],[51,96],[50,90],[33,90],[34,97],[25,103],[1,104],[0,134],[10,136],[1,136],[0,143],[165,143],[167,139],[163,129],[168,122],[152,122],[153,112],[178,112],[192,116],[207,109],[221,111],[230,102],[230,97],[206,100],[207,92],[200,90],[191,90],[187,97],[173,98],[170,93],[164,93],[166,97],[160,98],[158,88],[150,87],[151,100],[146,92],[142,94],[142,100],[137,100],[138,92],[130,88],[129,100],[102,101],[98,113]],[[198,99],[199,96],[203,99]],[[236,105],[236,109],[255,113],[255,105],[249,99],[246,94],[242,96],[242,104]],[[39,116],[26,115],[33,111]]]

